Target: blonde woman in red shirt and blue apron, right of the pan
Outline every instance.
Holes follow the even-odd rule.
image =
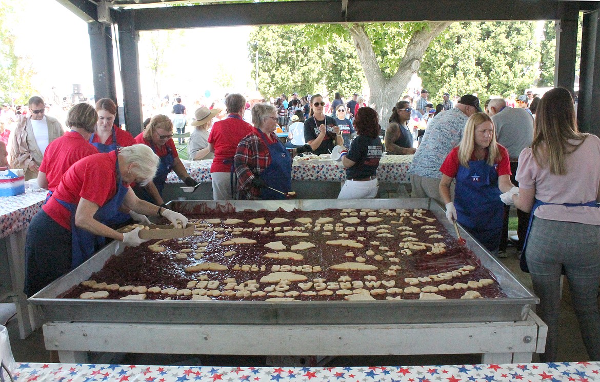
[[[485,113],[467,120],[463,139],[440,167],[440,195],[446,218],[458,221],[490,252],[500,245],[504,205],[499,197],[513,187],[508,151],[496,142],[494,122]],[[456,180],[454,201],[450,193]]]

